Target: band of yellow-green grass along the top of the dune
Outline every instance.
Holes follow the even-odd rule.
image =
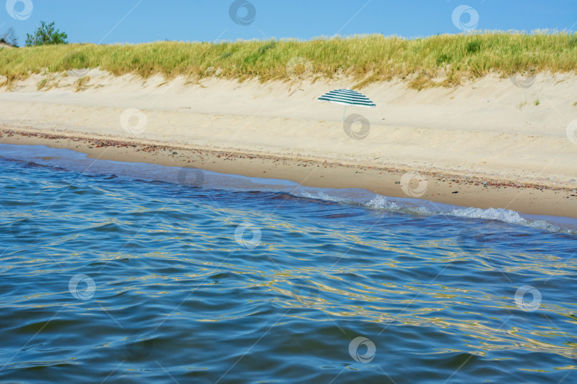
[[[575,72],[577,34],[484,32],[415,39],[370,35],[311,41],[164,41],[0,49],[4,85],[31,73],[74,68],[100,68],[117,76],[132,73],[142,78],[162,74],[167,79],[216,76],[240,81],[259,78],[262,82],[349,76],[356,88],[406,78],[410,87],[421,89],[458,85],[489,72],[503,76],[527,71]]]

